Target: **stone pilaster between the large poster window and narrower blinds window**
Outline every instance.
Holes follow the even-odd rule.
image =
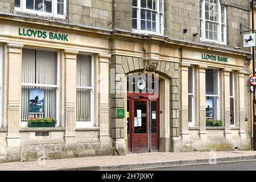
[[[65,143],[76,142],[76,60],[78,51],[64,50]]]

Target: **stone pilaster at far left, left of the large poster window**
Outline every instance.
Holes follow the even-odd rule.
[[[22,47],[20,44],[7,44],[7,146],[20,146],[20,104],[22,82]],[[13,73],[15,71],[15,74]]]

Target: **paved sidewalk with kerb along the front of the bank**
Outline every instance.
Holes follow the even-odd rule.
[[[256,159],[256,151],[151,152],[123,156],[92,156],[31,162],[0,163],[0,171],[94,171],[184,166]]]

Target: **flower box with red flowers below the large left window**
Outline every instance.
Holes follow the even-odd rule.
[[[30,117],[28,118],[28,127],[55,127],[56,119],[51,117],[39,118]]]

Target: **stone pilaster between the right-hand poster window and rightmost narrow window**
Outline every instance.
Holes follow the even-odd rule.
[[[223,70],[223,88],[224,88],[224,135],[227,140],[232,139],[230,131],[230,72],[232,70],[225,68]]]

